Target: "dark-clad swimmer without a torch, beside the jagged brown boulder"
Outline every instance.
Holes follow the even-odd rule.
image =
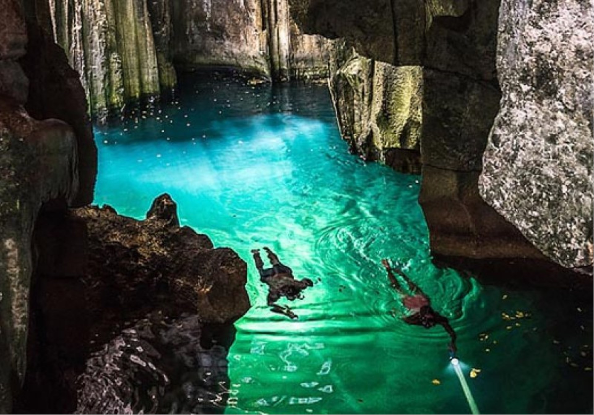
[[[314,283],[309,278],[296,280],[293,277],[293,270],[280,263],[279,257],[277,257],[270,248],[264,247],[264,251],[266,251],[268,255],[272,268],[264,269],[264,262],[260,257],[260,250],[252,249],[252,255],[254,256],[256,268],[258,269],[258,272],[260,272],[260,281],[268,285],[267,304],[270,307],[270,311],[284,314],[290,318],[298,318],[289,307],[283,307],[275,303],[283,296],[290,301],[293,301],[296,298],[303,298],[301,291],[307,287],[311,287]]]

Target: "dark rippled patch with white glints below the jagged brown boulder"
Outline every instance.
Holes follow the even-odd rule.
[[[223,413],[228,344],[196,316],[148,315],[91,352],[75,413]]]

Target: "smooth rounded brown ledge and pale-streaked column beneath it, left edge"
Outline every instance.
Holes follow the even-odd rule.
[[[10,412],[26,368],[34,222],[42,206],[72,202],[76,161],[68,125],[0,97],[0,411]]]

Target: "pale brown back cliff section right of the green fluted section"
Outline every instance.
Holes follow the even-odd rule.
[[[280,81],[327,76],[331,43],[302,34],[287,0],[184,0],[169,8],[172,59],[182,71],[230,66]]]

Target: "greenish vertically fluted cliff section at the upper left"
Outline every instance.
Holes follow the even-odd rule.
[[[160,81],[171,81],[159,76],[145,0],[48,1],[56,43],[80,74],[95,113],[157,95]]]

